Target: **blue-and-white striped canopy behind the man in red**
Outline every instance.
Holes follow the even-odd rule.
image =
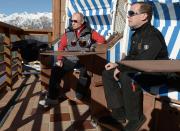
[[[108,38],[112,34],[114,13],[117,0],[67,0],[66,13],[68,18],[74,12],[81,12],[93,29]],[[68,18],[66,27],[68,26]]]

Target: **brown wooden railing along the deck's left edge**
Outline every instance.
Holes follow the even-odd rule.
[[[47,35],[48,42],[52,41],[52,30],[24,30],[3,22],[0,22],[0,89],[8,87],[12,89],[15,78],[22,76],[22,58],[18,51],[12,53],[11,36],[15,35],[17,40],[25,38],[25,35]]]

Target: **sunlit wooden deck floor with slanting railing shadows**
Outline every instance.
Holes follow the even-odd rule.
[[[19,89],[22,90],[19,90]],[[18,92],[18,93],[17,93]],[[8,131],[101,131],[90,124],[89,106],[67,99],[57,106],[44,109],[38,105],[41,95],[40,79],[35,75],[23,77],[0,96],[1,114],[4,108],[8,116],[0,130]],[[7,103],[9,107],[7,107]],[[2,118],[1,118],[2,119]]]

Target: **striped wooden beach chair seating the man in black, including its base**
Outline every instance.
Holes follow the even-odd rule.
[[[138,0],[130,0],[129,2],[136,1]],[[178,13],[180,11],[180,3],[176,0],[166,1],[166,3],[163,3],[162,0],[151,0],[149,2],[153,5],[154,10],[152,24],[164,35],[168,46],[169,57],[171,59],[180,59],[180,15]],[[127,54],[131,34],[132,32],[126,22],[123,38],[108,50],[107,61],[120,61],[120,59]],[[180,113],[180,92],[177,90],[180,85],[175,86],[176,87],[172,88],[167,85],[162,85],[150,87],[148,91],[144,91],[144,113],[147,121],[141,129],[153,131],[179,130],[177,122],[179,122],[180,119],[174,114]],[[101,87],[98,88],[98,94],[102,94],[103,89],[100,89]],[[92,94],[94,94],[94,92]],[[102,97],[103,98],[98,97],[99,103],[105,105],[104,96],[102,95]],[[94,101],[98,100],[94,99]]]

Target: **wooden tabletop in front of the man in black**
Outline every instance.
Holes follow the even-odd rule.
[[[180,72],[180,60],[123,60],[120,63],[143,72]]]

